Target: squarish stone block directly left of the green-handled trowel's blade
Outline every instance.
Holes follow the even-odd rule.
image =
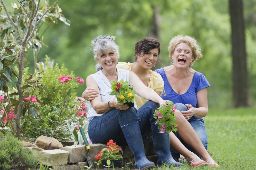
[[[86,161],[86,147],[85,145],[71,145],[63,147],[62,150],[68,151],[68,163],[77,163]]]

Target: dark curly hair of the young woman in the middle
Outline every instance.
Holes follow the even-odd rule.
[[[138,41],[135,44],[135,56],[136,55],[144,55],[146,52],[157,48],[158,54],[160,54],[160,42],[155,38],[143,38],[142,40]],[[137,60],[137,57],[135,58],[135,61]]]

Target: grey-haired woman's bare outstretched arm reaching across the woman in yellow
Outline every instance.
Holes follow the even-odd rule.
[[[146,100],[151,100],[155,103],[159,103],[160,106],[165,104],[163,100],[153,89],[145,86],[145,84],[140,80],[140,78],[132,71],[129,73],[130,83],[134,86],[136,94],[143,97]]]

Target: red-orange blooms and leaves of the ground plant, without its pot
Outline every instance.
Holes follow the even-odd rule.
[[[121,151],[120,147],[115,144],[115,142],[110,139],[107,143],[107,147],[103,148],[100,152],[97,152],[98,155],[96,155],[95,159],[100,159],[98,161],[99,164],[101,164],[102,160],[122,160],[123,156],[119,151]],[[97,162],[96,162],[97,163]]]

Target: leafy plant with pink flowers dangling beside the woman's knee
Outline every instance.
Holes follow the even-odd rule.
[[[176,132],[178,129],[176,128],[178,124],[176,124],[176,118],[174,116],[174,112],[176,110],[176,106],[174,106],[173,102],[169,101],[155,110],[154,118],[156,119],[155,125],[159,125],[158,129],[160,133],[168,134],[170,131]]]

